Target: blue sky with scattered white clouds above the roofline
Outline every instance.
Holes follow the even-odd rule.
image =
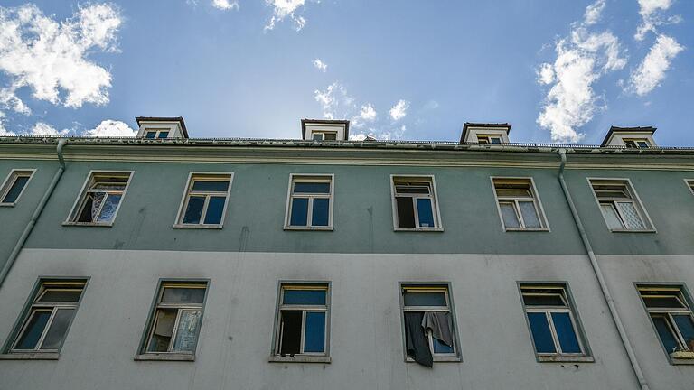
[[[694,145],[689,0],[0,7],[0,30],[16,27],[0,35],[0,133],[125,135],[135,116],[183,116],[193,137],[295,138],[300,118],[332,116],[379,138],[508,122],[511,141],[599,144],[610,125],[654,125],[659,144]]]

